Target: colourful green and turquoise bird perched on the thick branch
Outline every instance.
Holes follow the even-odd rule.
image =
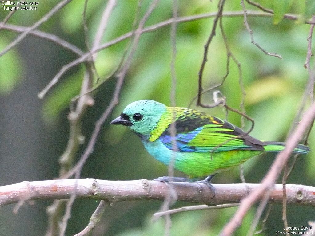
[[[202,111],[169,107],[154,100],[130,103],[110,124],[128,126],[156,160],[170,165],[174,159],[175,169],[184,172],[188,179],[207,176],[202,183],[208,186],[216,173],[264,152],[280,152],[285,147],[282,142],[253,138],[228,121]],[[309,147],[302,144],[293,150],[297,154],[309,151]],[[157,180],[168,181],[169,178]],[[186,178],[175,178],[177,180]]]

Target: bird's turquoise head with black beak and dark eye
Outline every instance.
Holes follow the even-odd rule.
[[[111,125],[125,125],[140,137],[148,137],[157,127],[157,122],[166,111],[166,106],[153,100],[130,103]]]

